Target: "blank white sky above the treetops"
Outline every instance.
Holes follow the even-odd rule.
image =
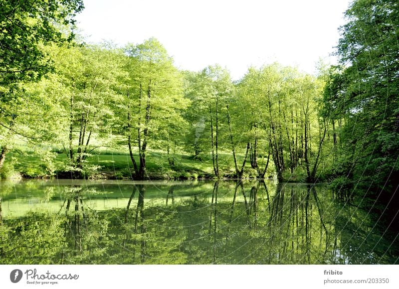
[[[180,69],[219,64],[234,80],[272,62],[316,72],[336,63],[350,0],[84,0],[76,16],[87,42],[157,38]]]

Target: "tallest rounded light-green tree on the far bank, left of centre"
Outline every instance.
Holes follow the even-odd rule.
[[[129,44],[125,53],[128,76],[120,90],[125,95],[121,120],[127,128],[124,135],[136,178],[144,179],[148,146],[168,152],[176,147],[176,132],[185,125],[181,115],[188,102],[183,97],[181,74],[157,39]],[[138,147],[139,165],[134,146]]]

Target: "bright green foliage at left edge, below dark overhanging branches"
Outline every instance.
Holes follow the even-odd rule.
[[[7,152],[20,141],[33,147],[56,142],[63,93],[57,76],[51,74],[39,82],[23,82],[2,95],[5,101],[0,102],[0,168]]]

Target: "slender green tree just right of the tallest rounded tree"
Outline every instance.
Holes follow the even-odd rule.
[[[188,145],[196,157],[210,151],[213,173],[220,177],[219,151],[227,145],[237,167],[229,113],[234,86],[229,72],[219,65],[207,66],[198,73],[186,75],[189,81],[186,95],[192,101],[186,115],[192,123]]]

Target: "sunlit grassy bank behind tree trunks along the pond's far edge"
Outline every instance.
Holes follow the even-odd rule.
[[[211,157],[196,159],[187,154],[175,154],[174,165],[169,164],[166,153],[152,151],[147,157],[147,177],[149,179],[197,179],[213,178]],[[238,160],[242,161],[239,157]],[[139,163],[139,158],[135,158]],[[7,165],[3,167],[2,178],[20,176],[24,178],[71,178],[66,165],[65,153],[52,152],[41,155],[33,151],[18,151],[7,154]],[[234,164],[229,153],[219,155],[219,167],[223,177],[234,174]],[[87,158],[84,175],[86,178],[132,179],[133,164],[130,155],[123,151],[98,151]],[[256,170],[247,162],[246,178],[256,177]]]

